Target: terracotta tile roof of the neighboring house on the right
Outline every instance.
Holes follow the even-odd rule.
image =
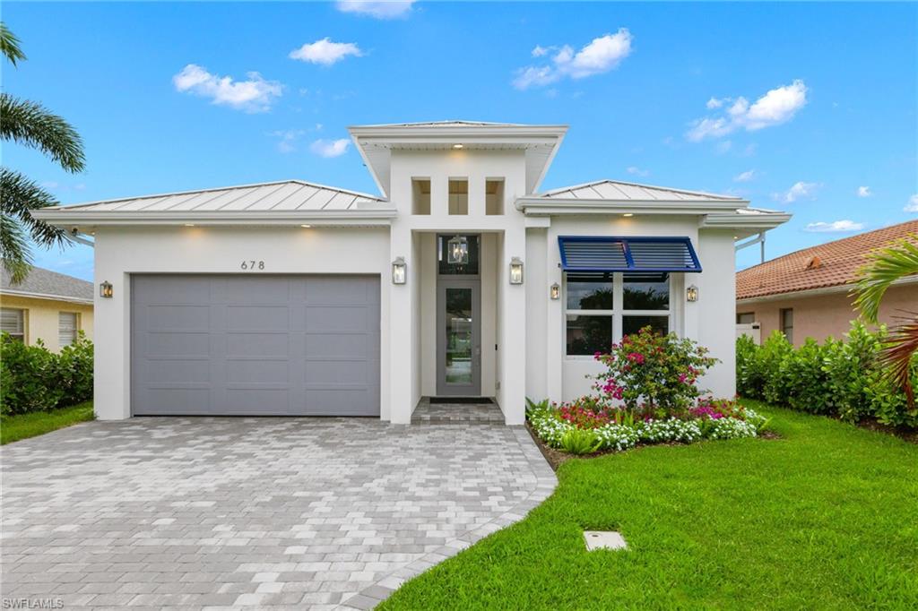
[[[796,293],[850,282],[870,250],[918,235],[918,219],[797,250],[736,273],[736,298]]]

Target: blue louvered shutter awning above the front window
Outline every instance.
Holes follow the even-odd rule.
[[[565,272],[700,272],[689,238],[559,236]]]

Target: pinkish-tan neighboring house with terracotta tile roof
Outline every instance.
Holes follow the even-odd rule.
[[[857,317],[850,294],[864,255],[918,235],[918,220],[797,250],[736,274],[736,323],[757,323],[764,341],[775,329],[794,345],[806,338],[840,339]],[[893,284],[879,308],[881,323],[918,310],[918,276]]]

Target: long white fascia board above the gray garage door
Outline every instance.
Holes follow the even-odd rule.
[[[143,212],[43,209],[32,211],[32,216],[57,227],[83,226],[169,226],[195,223],[196,225],[259,225],[285,226],[308,223],[326,226],[387,226],[397,217],[394,208],[382,210],[309,210],[284,212],[213,211],[213,212]]]

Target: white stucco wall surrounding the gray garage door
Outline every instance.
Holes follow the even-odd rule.
[[[251,260],[264,261],[264,270],[243,272],[241,262]],[[378,273],[380,318],[386,323],[389,265],[387,228],[99,228],[95,283],[112,283],[114,296],[95,297],[95,316],[106,321],[95,332],[96,416],[130,416],[132,273]],[[381,325],[380,341],[385,355],[388,324]],[[388,419],[390,364],[385,356],[381,367],[380,412]]]

